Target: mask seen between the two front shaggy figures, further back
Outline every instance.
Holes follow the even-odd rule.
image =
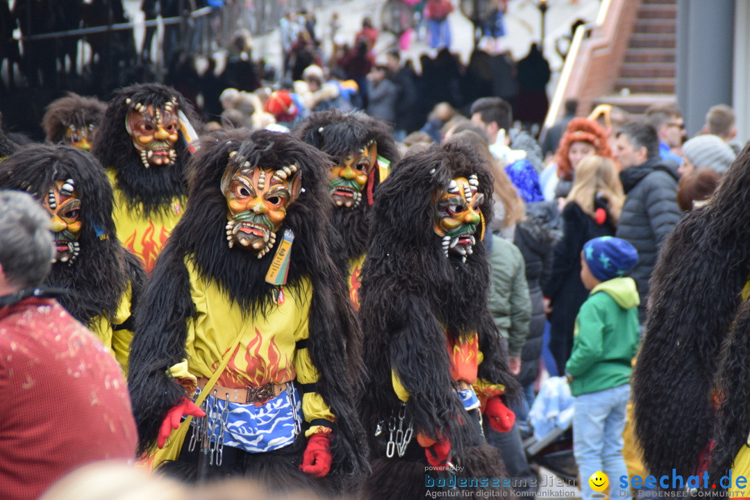
[[[338,165],[329,171],[329,192],[334,205],[340,208],[359,207],[376,163],[377,145],[374,142],[342,157]]]

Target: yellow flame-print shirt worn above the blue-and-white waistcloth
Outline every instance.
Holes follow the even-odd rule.
[[[188,320],[187,363],[169,370],[181,385],[190,389],[195,387],[197,378],[210,379],[224,355],[236,344],[238,335],[239,345],[217,385],[242,388],[269,382],[312,384],[320,379],[308,349],[296,349],[296,342],[309,336],[312,285],[308,280],[293,289],[285,286],[283,301],[274,305],[265,318],[258,314],[247,319],[217,283],[199,277],[189,259],[185,265],[190,274],[190,295],[196,316]],[[331,409],[317,392],[302,395],[302,413],[308,422],[318,418],[335,421]],[[326,430],[313,426],[305,434],[311,436]]]

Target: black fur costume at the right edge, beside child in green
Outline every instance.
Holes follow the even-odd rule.
[[[750,430],[750,351],[740,291],[750,276],[750,148],[745,146],[713,199],[667,237],[654,268],[646,332],[634,369],[635,430],[652,475],[697,473],[717,436],[714,474],[729,469]],[[724,385],[715,388],[722,343]],[[727,349],[728,348],[728,349]],[[729,377],[728,379],[726,377]],[[728,381],[728,382],[727,382]],[[714,397],[724,394],[715,428]],[[718,484],[717,484],[718,487]]]

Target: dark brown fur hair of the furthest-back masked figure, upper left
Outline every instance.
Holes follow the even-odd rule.
[[[46,140],[63,142],[65,131],[71,125],[79,130],[86,129],[89,124],[99,127],[106,109],[107,104],[96,97],[82,97],[74,92],[53,100],[42,118]]]

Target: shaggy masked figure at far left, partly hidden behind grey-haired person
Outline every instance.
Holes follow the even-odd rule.
[[[127,370],[145,271],[117,239],[112,187],[99,162],[70,146],[27,146],[0,162],[0,189],[26,191],[46,208],[57,253],[44,285],[65,289],[58,302]]]

